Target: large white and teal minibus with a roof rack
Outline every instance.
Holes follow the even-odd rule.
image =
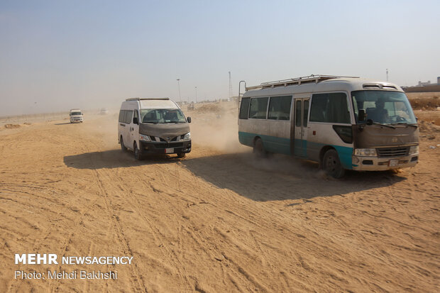
[[[332,177],[414,167],[419,160],[419,128],[405,92],[358,77],[315,75],[246,87],[238,138],[260,155],[319,162]]]

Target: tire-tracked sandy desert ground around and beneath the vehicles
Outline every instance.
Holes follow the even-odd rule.
[[[0,292],[440,291],[438,128],[424,124],[417,167],[334,180],[291,157],[255,160],[236,116],[189,116],[192,153],[141,162],[119,149],[116,115],[2,126]],[[15,253],[133,264],[15,265]]]

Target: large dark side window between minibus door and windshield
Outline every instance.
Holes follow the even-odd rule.
[[[345,93],[312,95],[310,121],[327,123],[351,123]]]

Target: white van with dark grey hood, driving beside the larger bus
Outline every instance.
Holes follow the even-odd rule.
[[[147,154],[177,154],[191,151],[191,117],[165,99],[126,99],[119,111],[118,140],[121,150],[133,150],[141,160]]]

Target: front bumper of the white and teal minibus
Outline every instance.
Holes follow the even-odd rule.
[[[353,170],[385,171],[398,168],[414,167],[419,162],[419,154],[403,157],[361,157],[353,155]]]

